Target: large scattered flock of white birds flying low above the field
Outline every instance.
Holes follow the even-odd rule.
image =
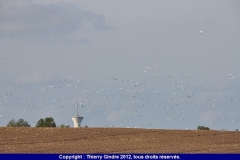
[[[35,76],[41,79],[45,75]],[[236,78],[234,74],[225,77],[229,81]],[[194,129],[190,126],[201,125],[199,121],[210,127],[240,125],[239,100],[234,98],[239,94],[237,90],[230,89],[228,95],[218,97],[220,91],[195,84],[194,77],[158,73],[157,65],[143,69],[135,80],[111,77],[102,86],[74,77],[51,83],[47,86],[2,85],[9,91],[0,92],[1,126],[17,116],[32,126],[39,118],[69,118],[66,114],[76,113],[76,103],[82,106],[79,112],[84,124],[92,127]],[[227,97],[230,95],[232,97]],[[227,106],[221,106],[226,101]],[[28,120],[29,115],[35,119]]]

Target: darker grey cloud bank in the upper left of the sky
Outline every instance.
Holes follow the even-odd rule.
[[[107,30],[102,15],[67,3],[39,5],[30,1],[3,1],[0,4],[1,35],[69,34],[78,30]]]

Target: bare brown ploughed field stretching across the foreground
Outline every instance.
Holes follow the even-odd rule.
[[[240,132],[1,127],[0,153],[240,153]]]

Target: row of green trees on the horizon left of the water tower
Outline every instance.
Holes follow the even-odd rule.
[[[31,125],[25,121],[24,119],[19,119],[15,121],[14,119],[10,120],[6,127],[31,127]],[[69,128],[68,124],[61,124],[60,126],[56,126],[56,123],[52,117],[41,118],[37,121],[35,127],[61,127],[61,128]]]

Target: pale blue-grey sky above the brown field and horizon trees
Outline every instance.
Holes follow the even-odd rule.
[[[0,126],[240,129],[240,2],[3,0]],[[202,34],[200,33],[202,31]]]

